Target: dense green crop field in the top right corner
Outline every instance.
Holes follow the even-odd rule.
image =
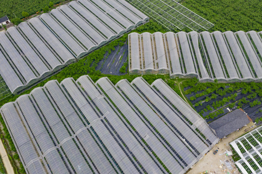
[[[212,31],[261,31],[261,0],[182,0],[180,3],[215,26]]]

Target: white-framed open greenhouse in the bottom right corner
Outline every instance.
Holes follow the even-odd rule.
[[[242,174],[262,172],[262,127],[251,131],[230,143],[240,160],[235,165]]]

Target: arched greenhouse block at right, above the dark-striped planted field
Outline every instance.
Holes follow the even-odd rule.
[[[129,73],[170,73],[200,81],[261,81],[262,31],[128,35]]]

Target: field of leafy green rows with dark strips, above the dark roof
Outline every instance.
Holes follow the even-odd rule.
[[[198,83],[195,79],[182,83],[185,95],[207,122],[242,108],[255,121],[262,116],[262,83]]]

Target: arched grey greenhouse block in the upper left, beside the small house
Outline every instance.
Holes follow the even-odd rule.
[[[149,18],[124,0],[77,0],[0,32],[0,75],[13,93]]]

